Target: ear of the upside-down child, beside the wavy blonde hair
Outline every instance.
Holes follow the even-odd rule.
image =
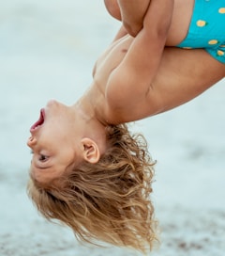
[[[91,164],[98,163],[98,160],[100,158],[100,151],[97,143],[91,138],[84,137],[82,138],[82,147],[83,159]]]

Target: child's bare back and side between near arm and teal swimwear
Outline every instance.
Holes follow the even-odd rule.
[[[134,94],[122,113],[112,113],[112,122],[141,120],[173,109],[194,99],[224,76],[225,65],[203,49],[166,47],[158,74],[145,99],[135,101]]]

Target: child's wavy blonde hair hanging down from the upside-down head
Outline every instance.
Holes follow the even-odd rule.
[[[69,226],[78,240],[146,252],[157,239],[150,200],[154,164],[142,135],[127,124],[107,127],[108,149],[97,164],[68,168],[51,184],[30,178],[27,191],[48,220]]]

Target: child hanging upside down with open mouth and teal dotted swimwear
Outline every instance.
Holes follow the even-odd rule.
[[[51,101],[41,110],[27,144],[34,152],[28,193],[43,216],[66,223],[87,242],[152,247],[154,161],[143,137],[131,136],[126,122],[184,104],[223,78],[225,38],[219,30],[209,33],[225,28],[219,3],[197,0],[191,18],[193,0],[175,0],[174,8],[173,1],[152,0],[137,36],[117,37],[99,56],[93,83],[77,103]],[[201,8],[205,18],[198,18]],[[200,28],[211,11],[221,17],[210,20],[205,36]],[[195,48],[189,40],[194,24],[200,25],[197,46],[206,51],[164,49],[165,43]],[[205,46],[216,40],[212,48]]]

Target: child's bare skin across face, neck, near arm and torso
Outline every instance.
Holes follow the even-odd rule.
[[[93,82],[77,103],[47,104],[44,122],[27,142],[34,152],[31,174],[39,182],[61,175],[72,162],[97,163],[107,125],[172,109],[224,77],[225,65],[202,49],[164,48],[185,39],[192,8],[189,0],[152,0],[136,37],[122,28],[98,57]]]

